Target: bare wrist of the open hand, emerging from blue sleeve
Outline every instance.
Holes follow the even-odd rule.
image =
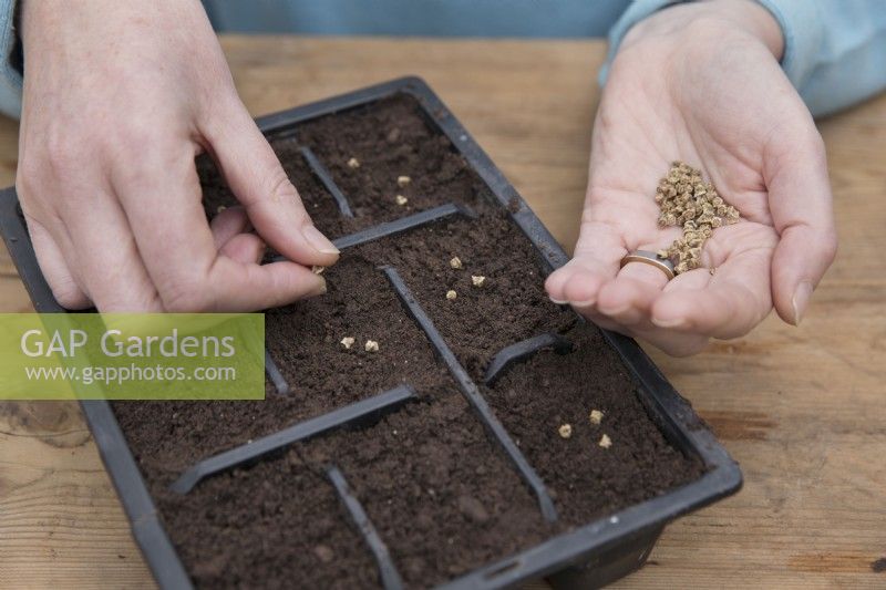
[[[619,50],[652,37],[679,35],[691,41],[699,32],[710,33],[712,39],[721,34],[754,39],[779,61],[784,53],[784,35],[777,20],[755,0],[697,0],[672,4],[635,24]]]

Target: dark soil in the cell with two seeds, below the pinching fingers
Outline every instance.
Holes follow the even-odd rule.
[[[267,349],[289,384],[266,382],[264,401],[115,402],[133,454],[151,477],[172,482],[207,456],[370,397],[402,383],[432,395],[449,383],[433,349],[368,260],[347,257],[327,270],[322,298],[270,310]],[[350,350],[340,341],[356,339]],[[380,342],[379,351],[363,344]],[[406,354],[403,351],[408,351]]]

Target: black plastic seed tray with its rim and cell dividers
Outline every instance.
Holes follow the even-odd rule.
[[[369,104],[395,93],[406,93],[419,101],[429,123],[436,126],[452,141],[455,148],[486,183],[499,204],[507,208],[514,222],[538,249],[546,266],[545,271],[550,272],[554,268],[563,265],[567,260],[563,249],[505,180],[486,154],[474,143],[464,127],[433,91],[418,77],[394,80],[268,115],[259,118],[258,124],[266,134],[293,135],[293,128],[299,123]],[[340,214],[352,217],[347,196],[336,186],[317,155],[307,147],[301,147],[300,153],[327,192],[334,198]],[[446,204],[401,219],[379,224],[334,241],[339,248],[348,248],[435,222],[453,215],[471,218],[474,213],[455,204]],[[55,302],[40,273],[19,211],[16,192],[12,188],[0,194],[0,230],[2,230],[12,259],[37,310],[63,312],[64,310]],[[556,508],[544,482],[498,422],[477,385],[460,364],[429,315],[412,297],[409,287],[401,279],[396,269],[383,267],[379,271],[388,277],[391,288],[400,298],[403,308],[425,333],[439,359],[449,369],[462,394],[474,410],[476,418],[485,426],[492,444],[507,457],[515,472],[535,495],[540,514],[548,520],[556,520]],[[605,337],[608,344],[619,353],[625,365],[636,377],[640,385],[638,395],[664,436],[684,454],[699,457],[704,463],[707,472],[693,483],[597,519],[517,555],[488,563],[451,580],[444,584],[444,588],[506,588],[537,578],[547,578],[557,588],[604,586],[641,567],[661,530],[669,521],[733,494],[741,487],[741,472],[735,462],[636,342],[614,333],[605,333]],[[507,371],[508,366],[542,349],[553,349],[557,353],[568,354],[571,344],[556,334],[538,334],[508,345],[493,358],[484,382],[494,382],[503,372]],[[266,355],[266,371],[277,392],[281,395],[287,394],[289,385],[270,354]],[[285,448],[297,441],[322,436],[323,433],[334,428],[360,427],[372,423],[387,412],[395,412],[402,404],[409,403],[414,397],[412,389],[403,385],[300,422],[219,455],[206,457],[183,473],[173,484],[172,489],[179,494],[187,494],[194,486],[199,485],[200,480],[213,474],[261,460],[262,456]],[[126,510],[135,540],[156,581],[162,588],[189,588],[188,575],[162,527],[154,503],[110,404],[102,401],[89,401],[81,402],[81,406]],[[352,524],[363,538],[367,549],[373,556],[382,586],[387,589],[401,588],[402,580],[398,572],[396,560],[389,553],[384,539],[379,536],[360,500],[351,493],[347,474],[336,465],[328,465],[326,475]]]

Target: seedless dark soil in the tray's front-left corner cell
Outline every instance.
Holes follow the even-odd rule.
[[[179,496],[152,489],[196,586],[372,588],[378,573],[326,476],[290,452]]]

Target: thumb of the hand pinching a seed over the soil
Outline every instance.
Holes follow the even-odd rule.
[[[202,128],[222,174],[259,236],[301,265],[329,266],[339,250],[313,226],[298,190],[238,97]]]

